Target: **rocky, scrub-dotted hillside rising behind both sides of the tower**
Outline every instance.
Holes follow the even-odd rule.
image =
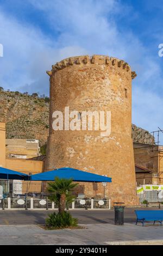
[[[49,99],[37,94],[0,90],[0,121],[6,123],[7,138],[39,139],[44,145],[48,136]],[[152,144],[151,133],[132,125],[134,142]]]

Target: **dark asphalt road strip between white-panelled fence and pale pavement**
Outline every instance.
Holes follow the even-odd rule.
[[[124,222],[136,222],[135,210],[151,210],[151,208],[125,208]],[[152,208],[158,210],[158,208]],[[26,225],[44,224],[49,213],[46,210],[0,210],[0,225]],[[104,224],[114,223],[114,209],[111,210],[71,210],[74,218],[78,218],[79,224]]]

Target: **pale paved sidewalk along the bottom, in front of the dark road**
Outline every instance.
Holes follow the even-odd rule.
[[[163,245],[163,227],[135,223],[82,224],[85,229],[44,230],[39,225],[0,225],[0,245]]]

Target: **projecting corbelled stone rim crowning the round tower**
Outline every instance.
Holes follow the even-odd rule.
[[[128,72],[132,79],[134,79],[137,75],[135,71],[131,71],[131,68],[127,62],[124,60],[120,60],[114,57],[109,57],[105,55],[93,55],[93,56],[76,56],[70,57],[57,62],[55,65],[52,65],[51,71],[46,71],[49,76],[52,76],[53,72],[64,69],[67,66],[72,65],[108,65],[114,66],[116,69],[122,69]]]

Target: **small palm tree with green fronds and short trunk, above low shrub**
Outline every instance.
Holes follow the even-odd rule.
[[[72,182],[72,179],[59,179],[58,177],[55,177],[54,182],[48,183],[47,190],[51,193],[49,199],[53,202],[58,202],[60,214],[65,211],[66,202],[72,202],[74,199],[74,196],[71,195],[71,191],[72,188],[78,185],[78,183],[75,184]]]

